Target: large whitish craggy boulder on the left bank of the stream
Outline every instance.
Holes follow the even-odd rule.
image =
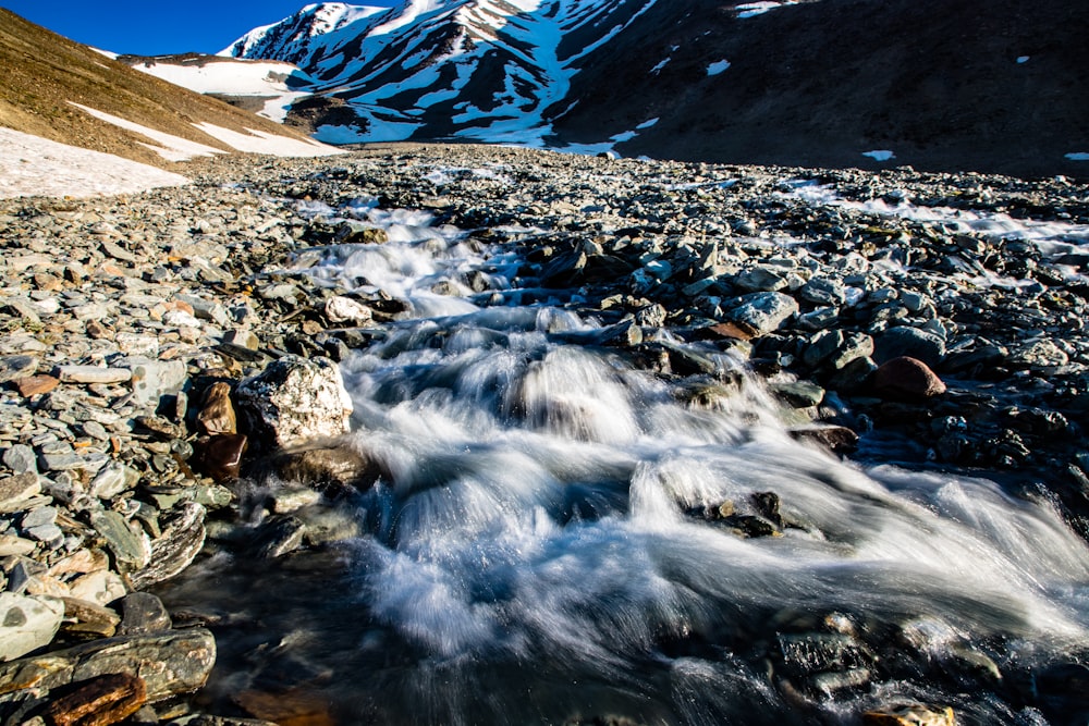
[[[348,430],[352,398],[328,358],[285,356],[243,380],[236,396],[249,431],[281,448]]]

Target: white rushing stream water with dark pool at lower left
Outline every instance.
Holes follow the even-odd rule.
[[[692,403],[693,381],[512,290],[517,259],[423,214],[341,213],[390,243],[309,273],[412,306],[342,364],[344,445],[386,473],[335,505],[363,536],[272,565],[215,554],[164,591],[216,615],[220,707],[264,691],[339,724],[788,724],[916,700],[1086,723],[1062,684],[1085,678],[1089,551],[1045,499],[799,443],[725,355],[723,395]],[[747,536],[758,517],[774,531]]]

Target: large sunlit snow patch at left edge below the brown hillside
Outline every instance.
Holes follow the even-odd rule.
[[[0,127],[0,198],[133,194],[188,181],[111,153]]]

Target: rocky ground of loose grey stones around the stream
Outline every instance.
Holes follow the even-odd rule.
[[[148,591],[169,600],[221,550],[290,557],[365,534],[319,506],[395,478],[332,445],[352,413],[337,364],[387,341],[414,303],[323,266],[387,242],[376,210],[427,212],[513,264],[504,284],[486,264],[437,281],[438,296],[594,320],[555,337],[609,350],[692,408],[722,405],[755,371],[800,440],[862,466],[986,477],[1089,536],[1082,184],[473,146],[220,159],[189,175],[142,195],[0,202],[5,723],[253,723],[187,698],[216,660],[213,623],[174,628]],[[687,516],[737,537],[791,526],[778,495],[697,504]],[[848,631],[779,657],[816,690],[866,687],[864,668],[812,664],[862,659]],[[1085,712],[1063,685],[1086,681],[1084,663],[1052,663],[1010,700]],[[270,701],[237,700],[290,719]],[[898,705],[865,718],[916,723],[880,721]],[[102,715],[71,715],[86,712]]]

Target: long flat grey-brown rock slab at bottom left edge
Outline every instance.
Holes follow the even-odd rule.
[[[60,607],[60,605],[58,605]],[[59,688],[109,674],[139,676],[149,703],[191,693],[216,663],[216,639],[204,628],[102,638],[0,665],[10,689]]]

